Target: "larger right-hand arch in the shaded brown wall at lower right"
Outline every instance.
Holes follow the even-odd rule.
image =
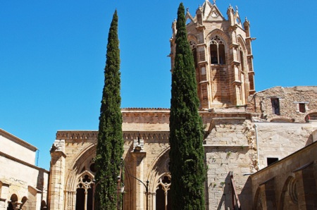
[[[289,196],[288,198],[287,198],[287,195]],[[285,208],[285,202],[287,200],[292,201],[292,203],[296,205],[295,209],[298,208],[298,206],[297,206],[297,202],[298,202],[297,185],[296,185],[294,175],[290,175],[285,180],[285,183],[282,187],[282,192],[280,194],[280,203],[279,203],[278,209],[283,210]],[[289,208],[287,208],[287,209],[289,209]]]

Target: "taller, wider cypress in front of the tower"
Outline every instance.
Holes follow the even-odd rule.
[[[187,42],[185,9],[178,8],[175,66],[170,100],[170,186],[172,209],[205,209],[203,126],[194,58]]]

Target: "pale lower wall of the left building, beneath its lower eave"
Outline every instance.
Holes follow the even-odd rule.
[[[17,198],[15,203],[17,207],[31,204],[39,209],[41,202],[46,202],[49,171],[2,152],[0,152],[0,168],[1,210],[7,208],[14,194]],[[30,197],[30,192],[36,196]],[[29,203],[24,203],[29,198]]]

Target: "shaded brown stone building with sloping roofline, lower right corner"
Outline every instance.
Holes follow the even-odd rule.
[[[250,175],[253,209],[317,208],[317,142]]]

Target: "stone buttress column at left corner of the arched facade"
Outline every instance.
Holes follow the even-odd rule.
[[[55,140],[51,147],[51,170],[49,176],[49,209],[64,209],[65,140]]]

